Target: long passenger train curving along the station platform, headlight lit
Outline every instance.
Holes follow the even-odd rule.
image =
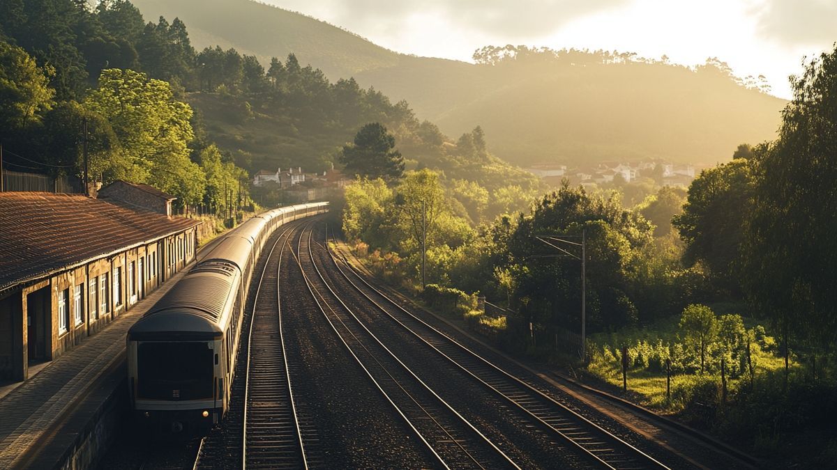
[[[200,435],[229,410],[250,281],[270,235],[328,210],[328,202],[280,207],[224,235],[131,326],[128,387],[139,427]]]

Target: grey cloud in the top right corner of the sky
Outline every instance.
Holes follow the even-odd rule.
[[[753,8],[757,32],[792,46],[823,46],[837,41],[834,0],[765,0]]]

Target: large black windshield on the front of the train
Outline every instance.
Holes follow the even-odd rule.
[[[136,355],[137,398],[213,398],[213,355],[206,342],[140,343]]]

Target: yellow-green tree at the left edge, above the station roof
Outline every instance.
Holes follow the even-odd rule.
[[[54,105],[49,88],[53,69],[35,64],[21,48],[0,41],[0,123],[25,128]]]

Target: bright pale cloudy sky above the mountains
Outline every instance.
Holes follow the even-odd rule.
[[[789,99],[802,59],[837,41],[837,0],[263,0],[403,54],[472,61],[486,45],[606,49],[763,74]]]

